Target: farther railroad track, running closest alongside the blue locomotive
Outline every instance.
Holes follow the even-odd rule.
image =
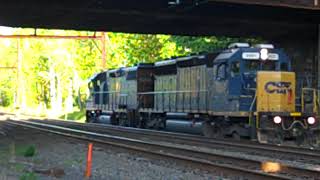
[[[68,121],[49,120],[37,121],[46,122],[49,124],[85,129],[87,131],[94,131],[98,133],[107,133],[114,136],[124,136],[142,140],[152,140],[158,142],[170,142],[172,144],[187,145],[197,148],[215,149],[220,151],[243,153],[247,155],[263,156],[268,159],[278,159],[288,163],[300,163],[316,165],[320,168],[320,151],[306,148],[298,148],[294,146],[275,146],[270,144],[259,144],[250,141],[225,141],[203,136],[195,136],[189,134],[171,133],[154,130],[141,130],[135,128],[127,128],[121,126],[101,125],[101,124],[83,124]]]

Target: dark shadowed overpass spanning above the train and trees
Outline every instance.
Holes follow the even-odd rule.
[[[319,0],[11,0],[0,25],[180,35],[261,37],[283,47],[317,85]],[[319,83],[320,84],[320,83]]]

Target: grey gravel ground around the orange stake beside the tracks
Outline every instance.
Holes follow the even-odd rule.
[[[0,179],[83,179],[87,142],[53,134],[5,127],[0,121]],[[35,155],[21,151],[34,147]],[[225,179],[175,162],[156,160],[123,149],[94,145],[91,179]]]

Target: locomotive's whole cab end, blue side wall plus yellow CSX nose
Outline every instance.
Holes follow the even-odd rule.
[[[213,72],[213,124],[219,124],[224,135],[277,144],[285,138],[314,143],[318,137],[317,91],[303,88],[297,93],[295,73],[282,50],[268,44],[234,44],[216,57]]]

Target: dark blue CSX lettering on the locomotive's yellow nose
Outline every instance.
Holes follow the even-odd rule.
[[[291,82],[267,82],[264,86],[267,93],[287,94],[291,93]]]

